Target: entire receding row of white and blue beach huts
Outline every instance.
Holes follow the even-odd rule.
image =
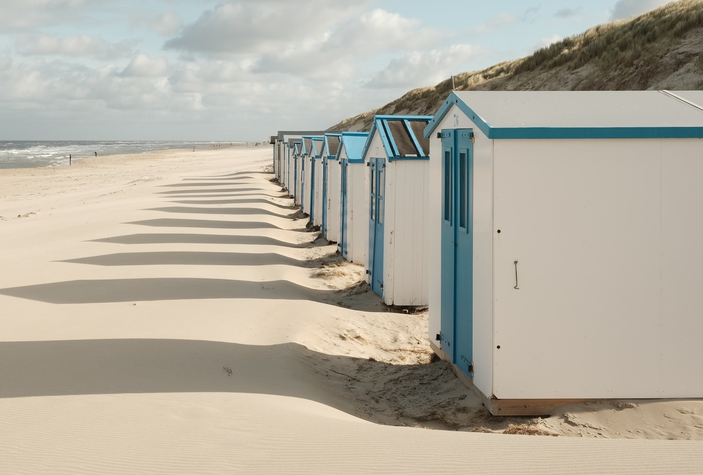
[[[703,91],[453,91],[273,170],[494,414],[703,397]]]

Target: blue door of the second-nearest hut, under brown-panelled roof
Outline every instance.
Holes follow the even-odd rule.
[[[385,158],[370,159],[370,220],[368,235],[368,267],[371,289],[383,296],[383,221],[385,215]]]

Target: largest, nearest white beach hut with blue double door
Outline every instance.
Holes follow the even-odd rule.
[[[430,339],[494,414],[703,397],[700,99],[455,91],[425,129]]]

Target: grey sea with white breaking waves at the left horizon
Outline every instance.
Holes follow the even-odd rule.
[[[171,148],[212,148],[245,145],[243,141],[91,141],[91,140],[3,140],[0,141],[0,169],[56,167],[72,159],[107,157],[122,153],[147,153]],[[252,142],[250,142],[252,144]]]

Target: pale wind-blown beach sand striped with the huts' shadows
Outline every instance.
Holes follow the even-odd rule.
[[[1,474],[703,473],[701,400],[486,414],[270,163],[0,170]]]

